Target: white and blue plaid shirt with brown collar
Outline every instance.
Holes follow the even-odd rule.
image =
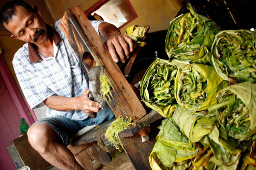
[[[99,34],[98,26],[103,21],[90,22]],[[80,96],[89,88],[88,75],[61,31],[60,23],[61,19],[52,27],[47,25],[47,32],[54,41],[54,57],[44,58],[34,48],[35,44],[25,43],[12,61],[21,89],[32,109],[44,106],[43,101],[51,95],[71,98]],[[48,117],[64,116],[76,121],[88,118],[81,110],[64,112],[48,108],[46,114]]]

